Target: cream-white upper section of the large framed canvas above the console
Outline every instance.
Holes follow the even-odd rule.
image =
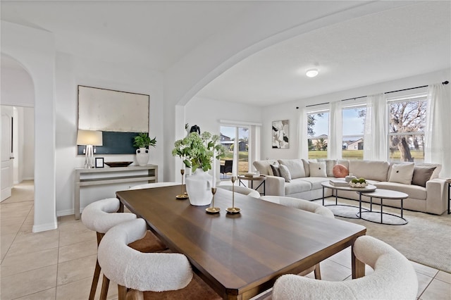
[[[149,95],[79,85],[78,129],[148,132]]]

